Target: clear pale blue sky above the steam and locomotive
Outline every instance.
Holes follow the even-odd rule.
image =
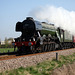
[[[15,31],[16,23],[29,17],[33,9],[47,5],[75,11],[75,0],[0,0],[0,39],[19,37],[21,33]]]

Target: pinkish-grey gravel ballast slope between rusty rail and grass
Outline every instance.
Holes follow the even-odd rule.
[[[0,61],[0,72],[17,69],[19,67],[28,67],[28,66],[36,65],[45,60],[52,60],[53,58],[56,57],[56,53],[58,53],[59,56],[71,55],[75,53],[75,48],[60,50],[60,51],[53,51],[53,52],[38,53],[38,54],[32,54],[32,55],[24,55],[24,56],[21,56],[21,57],[19,56],[13,59],[2,60]]]

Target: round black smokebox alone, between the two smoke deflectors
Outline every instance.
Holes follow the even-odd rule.
[[[35,34],[35,23],[32,18],[27,18],[22,22],[23,30],[22,37],[28,41]]]

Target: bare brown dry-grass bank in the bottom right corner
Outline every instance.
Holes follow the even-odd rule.
[[[52,75],[75,75],[75,62],[55,69]]]

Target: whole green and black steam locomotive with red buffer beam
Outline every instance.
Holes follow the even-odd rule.
[[[14,49],[17,47],[19,54],[75,47],[74,37],[67,31],[56,28],[54,24],[36,21],[32,17],[17,22],[16,31],[21,32],[21,36],[13,42]]]

